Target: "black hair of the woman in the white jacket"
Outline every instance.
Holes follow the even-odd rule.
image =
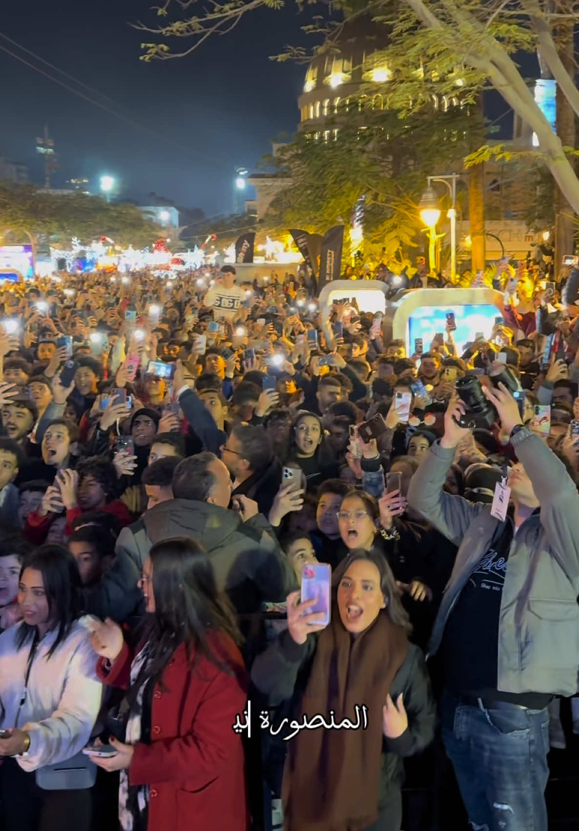
[[[47,658],[50,658],[81,615],[81,575],[75,558],[61,545],[41,545],[36,551],[27,553],[20,569],[21,580],[27,568],[34,568],[42,574],[50,621],[53,628],[58,627],[56,640],[47,652]],[[18,649],[33,640],[36,629],[22,622],[17,634]]]

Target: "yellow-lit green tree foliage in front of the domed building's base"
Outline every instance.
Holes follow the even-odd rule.
[[[460,172],[484,128],[459,108],[429,107],[401,118],[393,111],[364,109],[366,101],[353,101],[357,112],[338,114],[317,140],[300,133],[267,158],[267,164],[292,176],[264,219],[272,233],[296,226],[316,234],[339,223],[349,227],[363,199],[370,250],[379,245],[389,258],[401,258],[420,242],[418,204],[426,177]]]

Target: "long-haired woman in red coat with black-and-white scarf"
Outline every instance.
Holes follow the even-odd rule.
[[[125,742],[109,758],[120,770],[123,831],[247,831],[241,738],[235,716],[247,701],[238,632],[218,597],[197,543],[174,538],[151,548],[141,576],[149,626],[133,655],[115,622],[91,642],[106,684],[127,690]]]

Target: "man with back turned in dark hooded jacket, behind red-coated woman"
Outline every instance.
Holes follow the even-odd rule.
[[[161,502],[130,528],[122,529],[116,551],[142,567],[150,547],[177,536],[194,538],[213,564],[218,591],[228,593],[240,614],[258,612],[262,602],[285,600],[296,584],[291,565],[257,504],[234,498],[223,462],[205,451],[179,462],[173,476],[174,499]]]

